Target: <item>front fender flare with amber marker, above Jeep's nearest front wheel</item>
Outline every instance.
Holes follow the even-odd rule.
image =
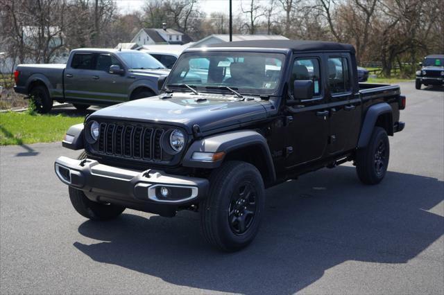
[[[262,153],[263,161],[266,164],[268,178],[271,182],[276,179],[275,167],[273,164],[273,158],[271,157],[270,149],[266,143],[266,139],[261,134],[253,130],[239,130],[234,132],[226,132],[223,134],[216,134],[213,136],[208,136],[191,144],[185,157],[182,160],[182,165],[185,167],[192,168],[207,168],[214,169],[222,165],[223,159],[219,161],[196,161],[192,159],[194,152],[225,152],[228,154],[239,150],[243,147],[248,147],[250,145],[255,145],[260,147]]]

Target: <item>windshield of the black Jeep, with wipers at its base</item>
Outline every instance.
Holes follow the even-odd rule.
[[[167,86],[189,84],[200,91],[228,86],[244,93],[270,94],[279,85],[284,58],[282,53],[183,53],[169,75]]]

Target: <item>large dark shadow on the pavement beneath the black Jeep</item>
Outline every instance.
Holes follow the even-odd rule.
[[[97,262],[119,265],[176,285],[244,294],[298,292],[348,260],[407,263],[444,233],[438,179],[388,172],[378,186],[360,184],[351,167],[320,170],[267,190],[256,240],[219,253],[199,233],[198,215],[169,219],[123,214],[87,221],[80,234],[100,240],[74,247]],[[434,209],[436,210],[436,208]]]

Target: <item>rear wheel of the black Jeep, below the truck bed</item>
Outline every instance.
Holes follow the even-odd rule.
[[[390,144],[384,128],[375,127],[367,147],[357,150],[356,171],[364,184],[379,184],[384,179],[390,157]]]

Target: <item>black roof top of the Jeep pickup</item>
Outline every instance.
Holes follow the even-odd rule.
[[[308,40],[250,40],[223,42],[211,44],[208,47],[283,48],[293,51],[350,51],[355,53],[355,47],[350,44]]]

